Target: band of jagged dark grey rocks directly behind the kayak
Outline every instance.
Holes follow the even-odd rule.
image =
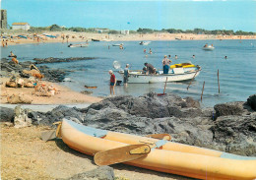
[[[87,108],[57,106],[46,113],[1,108],[1,121],[16,126],[52,126],[63,118],[99,129],[148,135],[168,133],[172,141],[240,155],[256,156],[256,94],[247,101],[201,108],[191,97],[148,93],[138,97],[114,96]]]

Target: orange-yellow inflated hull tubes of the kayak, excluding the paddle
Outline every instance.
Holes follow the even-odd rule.
[[[93,137],[94,131],[88,127],[63,120],[61,137],[65,144],[74,150],[94,155],[98,151],[111,150],[143,141],[159,140],[128,134],[107,132],[101,138]],[[93,133],[93,136],[88,133]],[[118,142],[120,140],[120,142]],[[172,147],[167,150],[166,147]],[[194,150],[194,151],[193,151]],[[202,153],[207,151],[209,155]],[[127,164],[179,174],[199,179],[255,179],[255,159],[224,158],[223,152],[200,149],[197,147],[179,145],[167,142],[160,149],[152,150],[146,157],[126,162]]]

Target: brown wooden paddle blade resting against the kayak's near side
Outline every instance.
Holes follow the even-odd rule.
[[[145,157],[150,152],[151,148],[148,145],[129,145],[117,149],[96,152],[94,159],[96,165],[111,165]]]

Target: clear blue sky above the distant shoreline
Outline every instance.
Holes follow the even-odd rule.
[[[256,0],[2,0],[1,9],[7,10],[9,25],[256,32]]]

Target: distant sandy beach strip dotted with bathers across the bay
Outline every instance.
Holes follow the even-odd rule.
[[[143,41],[143,40],[211,40],[211,39],[256,39],[256,35],[214,35],[214,34],[193,34],[193,33],[131,33],[131,34],[107,34],[107,33],[93,33],[93,32],[74,32],[74,31],[45,31],[49,35],[56,35],[56,38],[50,38],[42,34],[37,39],[33,38],[9,38],[8,45],[24,44],[24,43],[47,43],[47,42],[63,42],[70,43],[76,41],[92,41],[92,38],[100,41]],[[8,33],[8,35],[17,36],[19,34],[32,36],[33,33]],[[69,38],[61,37],[62,35],[69,35]],[[1,43],[1,46],[2,43]]]

